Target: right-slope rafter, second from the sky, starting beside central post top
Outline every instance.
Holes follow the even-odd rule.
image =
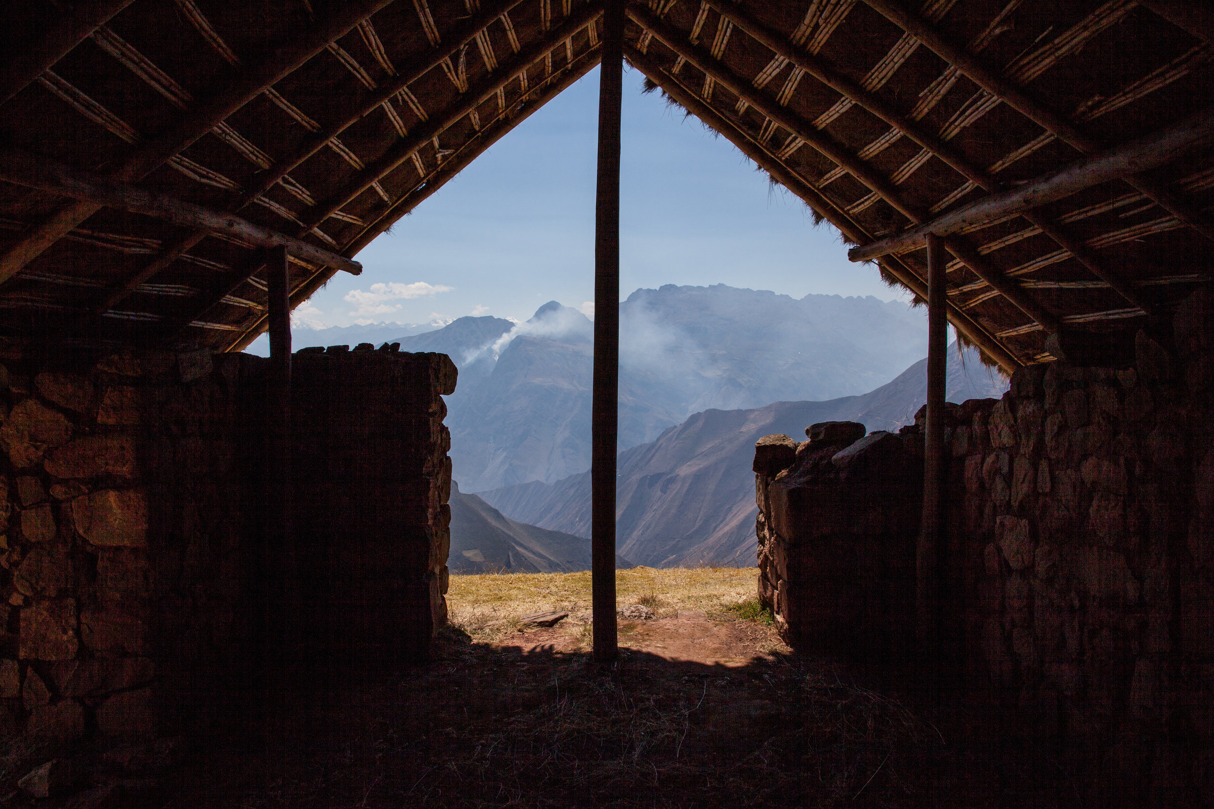
[[[818,133],[812,125],[804,121],[800,116],[794,115],[792,112],[779,107],[778,104],[770,103],[760,93],[749,90],[745,86],[745,82],[731,72],[726,70],[724,65],[720,65],[719,62],[709,53],[686,42],[674,28],[666,25],[653,15],[649,15],[636,6],[629,7],[628,15],[634,22],[646,30],[649,30],[656,39],[665,44],[671,51],[681,56],[690,64],[702,70],[705,75],[711,76],[721,86],[730,90],[730,92],[734,93],[739,98],[743,98],[756,110],[776,121],[794,136],[805,141],[807,144],[812,146],[830,160],[834,160],[836,164],[843,166],[870,190],[879,194],[881,199],[910,220],[913,224],[919,224],[920,222],[927,220],[927,215],[924,211],[902,201],[894,184],[881,177],[868,164],[858,156],[849,153],[846,149],[839,147],[824,135]],[[925,146],[925,148],[930,149],[931,147]],[[978,175],[976,170],[972,170],[971,173],[982,177],[983,187],[989,188],[993,186],[989,177]],[[866,241],[868,239],[866,239]],[[1002,274],[988,262],[975,261],[977,258],[977,253],[975,251],[968,249],[957,239],[949,239],[946,244],[948,250],[954,256],[968,264],[978,278],[989,284],[993,289],[998,290],[1000,295],[1006,297],[1008,301],[1012,303],[1012,306],[1033,318],[1033,320],[1043,329],[1051,332],[1057,331],[1059,321],[1056,318],[1037,304],[1027,292],[1021,290],[1014,283],[1003,279]]]

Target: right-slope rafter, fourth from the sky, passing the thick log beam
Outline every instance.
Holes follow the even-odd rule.
[[[1032,119],[1045,131],[1066,141],[1082,154],[1093,154],[1101,150],[1102,146],[1095,138],[1089,137],[1061,115],[1033,101],[1028,93],[1020,90],[1012,82],[987,69],[977,57],[942,36],[931,23],[906,10],[898,0],[864,0],[864,2],[886,19],[902,28],[902,30],[921,41],[940,58],[960,70],[970,81],[1022,115]],[[1207,239],[1214,240],[1214,224],[1201,211],[1186,204],[1159,183],[1138,175],[1127,175],[1122,180],[1146,194],[1157,205]]]

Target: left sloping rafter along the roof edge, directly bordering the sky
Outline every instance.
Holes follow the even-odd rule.
[[[379,220],[354,237],[345,250],[342,250],[342,255],[358,255],[358,251],[369,245],[379,234],[391,227],[393,222],[408,215],[418,205],[430,199],[430,196],[438,192],[438,189],[441,189],[447,181],[452,180],[455,175],[466,169],[476,158],[483,154],[486,149],[497,143],[506,133],[518,126],[518,124],[527,120],[532,113],[540,109],[544,104],[569,87],[569,85],[589,73],[596,64],[599,64],[599,51],[588,51],[578,57],[571,68],[566,68],[563,73],[555,74],[552,79],[556,79],[556,81],[546,84],[541,92],[537,93],[535,97],[531,99],[531,102],[522,110],[517,112],[514,118],[501,116],[498,119],[497,124],[481,130],[477,136],[483,139],[481,139],[475,148],[460,149],[456,154],[449,155],[438,169],[426,177],[425,183],[418,186],[418,188],[393,203],[393,205],[385,211]],[[308,300],[318,289],[324,286],[329,279],[336,274],[336,272],[337,270],[330,267],[322,267],[313,273],[311,278],[296,286],[291,292],[291,308],[294,309],[300,303]],[[239,337],[233,340],[227,348],[225,348],[225,351],[244,351],[249,343],[257,338],[265,327],[266,315],[261,315],[256,318],[254,323],[240,334]]]

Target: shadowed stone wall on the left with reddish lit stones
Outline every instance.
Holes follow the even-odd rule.
[[[455,382],[444,355],[359,348],[296,355],[310,609],[287,610],[310,659],[353,670],[422,654],[446,617]],[[205,725],[255,682],[267,361],[0,361],[0,736]]]

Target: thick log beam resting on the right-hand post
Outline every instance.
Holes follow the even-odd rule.
[[[1038,177],[999,194],[975,200],[931,222],[847,252],[851,261],[868,261],[924,244],[927,233],[948,235],[968,226],[983,224],[1009,215],[1065,199],[1100,183],[1159,169],[1180,155],[1214,143],[1214,109],[1203,109],[1161,132],[1078,160],[1060,171]]]

